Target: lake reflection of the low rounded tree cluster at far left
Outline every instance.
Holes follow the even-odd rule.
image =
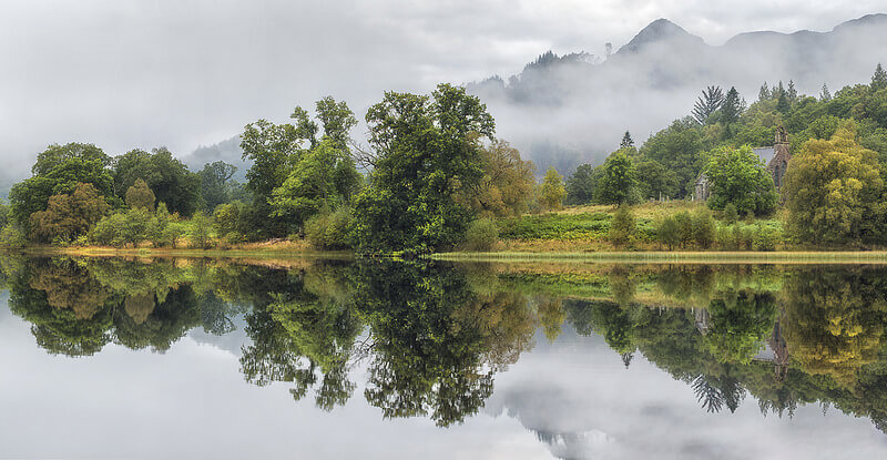
[[[6,270],[10,309],[32,324],[38,345],[53,354],[93,355],[112,341],[164,351],[202,321],[215,331],[220,321],[230,324],[215,297],[198,296],[187,284],[191,265],[73,258],[14,265]]]

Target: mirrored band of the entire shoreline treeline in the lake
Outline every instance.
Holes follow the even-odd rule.
[[[461,422],[537,329],[554,340],[567,324],[600,335],[626,367],[642,354],[707,411],[751,396],[764,413],[819,402],[887,428],[884,268],[146,262],[4,259],[2,279],[53,354],[164,351],[196,327],[231,333],[244,315],[244,378],[285,382],[325,410],[354,397],[361,364],[363,397],[384,417]]]

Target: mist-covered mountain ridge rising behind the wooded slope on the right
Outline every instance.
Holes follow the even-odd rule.
[[[722,45],[705,43],[659,19],[609,57],[548,52],[520,73],[468,84],[497,120],[498,135],[537,164],[561,173],[581,163],[600,164],[631,131],[642,143],[690,114],[706,85],[736,86],[753,102],[765,81],[795,82],[816,95],[867,83],[887,63],[887,14],[869,14],[828,32],[741,33]]]

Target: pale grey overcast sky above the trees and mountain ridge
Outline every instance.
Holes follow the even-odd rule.
[[[327,94],[363,117],[385,90],[509,75],[548,49],[600,55],[661,17],[720,44],[873,12],[887,0],[3,0],[0,155],[9,173],[57,142],[186,154]]]

